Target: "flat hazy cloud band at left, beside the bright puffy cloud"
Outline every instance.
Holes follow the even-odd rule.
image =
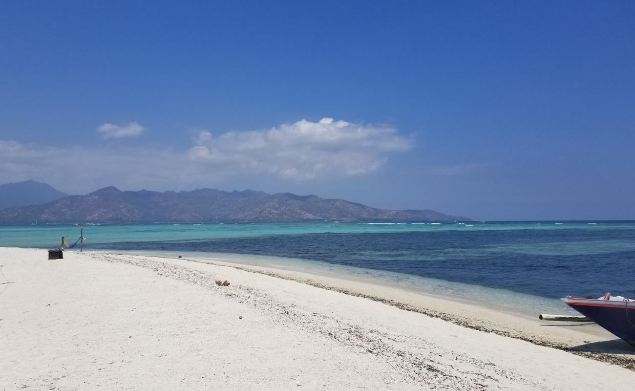
[[[0,141],[0,183],[34,179],[70,193],[108,185],[121,189],[195,188],[222,176],[192,165],[184,151],[90,146],[34,146]]]

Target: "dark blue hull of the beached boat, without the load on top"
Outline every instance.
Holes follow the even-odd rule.
[[[630,345],[635,346],[635,303],[622,303],[620,306],[566,304]]]

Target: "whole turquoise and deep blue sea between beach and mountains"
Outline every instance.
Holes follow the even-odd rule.
[[[40,224],[0,226],[0,246],[53,249],[80,228],[87,252],[308,271],[536,316],[566,313],[567,295],[635,297],[635,221]]]

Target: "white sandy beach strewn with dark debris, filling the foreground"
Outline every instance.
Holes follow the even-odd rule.
[[[47,261],[43,250],[0,248],[0,390],[630,390],[635,381],[624,367],[634,352],[597,326],[540,326],[390,287],[211,262],[70,252]]]

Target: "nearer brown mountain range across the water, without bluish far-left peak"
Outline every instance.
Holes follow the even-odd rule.
[[[212,221],[469,221],[434,210],[377,209],[339,199],[263,191],[121,191],[113,186],[42,205],[0,210],[0,224]]]

